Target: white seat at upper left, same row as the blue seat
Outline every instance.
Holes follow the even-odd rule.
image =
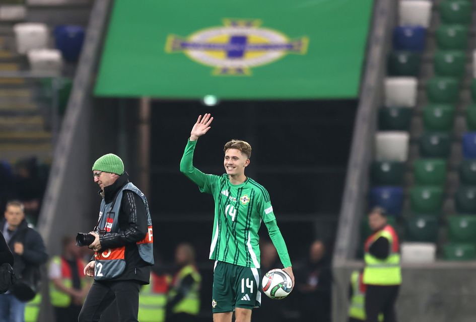
[[[30,49],[46,48],[48,28],[45,24],[21,23],[13,27],[17,51],[26,54]]]

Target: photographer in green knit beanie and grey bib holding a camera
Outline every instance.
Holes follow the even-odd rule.
[[[78,234],[77,244],[95,251],[84,274],[94,276],[78,321],[99,321],[115,300],[119,321],[137,321],[140,285],[149,284],[153,257],[152,219],[144,194],[128,181],[122,160],[101,156],[93,165],[103,198],[98,224]]]

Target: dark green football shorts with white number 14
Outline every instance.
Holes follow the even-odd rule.
[[[212,312],[233,312],[235,307],[253,309],[261,305],[259,268],[215,262]]]

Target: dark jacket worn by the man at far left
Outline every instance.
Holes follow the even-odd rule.
[[[6,224],[7,221],[4,219],[1,225],[2,231]],[[23,244],[22,255],[19,255],[14,251],[15,243],[17,242]],[[43,244],[43,238],[41,238],[41,235],[35,229],[28,227],[28,223],[25,219],[23,219],[17,230],[13,233],[8,242],[8,246],[12,250],[15,259],[13,269],[17,276],[21,276],[23,270],[27,266],[40,266],[48,260],[46,248]]]

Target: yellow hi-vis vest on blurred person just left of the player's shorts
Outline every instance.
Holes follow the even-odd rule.
[[[172,289],[169,292],[169,299],[177,295],[178,286],[185,278],[185,276],[190,275],[193,278],[193,285],[188,291],[187,294],[178,302],[173,308],[173,313],[187,313],[190,315],[197,315],[200,311],[200,282],[201,275],[198,273],[196,268],[193,265],[184,266],[174,277],[172,283]]]

